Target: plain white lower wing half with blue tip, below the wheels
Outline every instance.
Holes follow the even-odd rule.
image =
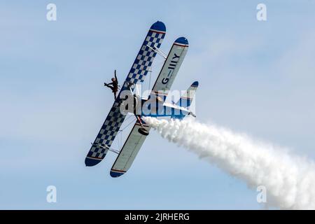
[[[127,170],[131,167],[132,162],[134,162],[134,158],[136,158],[136,155],[146,139],[145,135],[138,132],[140,127],[141,125],[138,122],[134,124],[134,127],[116,158],[113,167],[111,167],[112,177],[118,177],[125,174],[125,172],[127,172]],[[148,125],[144,125],[144,127],[146,127],[146,130],[150,130]]]

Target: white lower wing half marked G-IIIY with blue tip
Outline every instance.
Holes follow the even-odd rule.
[[[185,37],[177,38],[153,85],[153,92],[162,90],[162,92],[167,93],[167,91],[171,89],[187,50],[188,40]]]

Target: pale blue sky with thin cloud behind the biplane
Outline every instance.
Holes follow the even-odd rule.
[[[48,3],[57,21],[46,20]],[[125,79],[160,20],[164,52],[179,36],[190,43],[172,89],[199,81],[199,122],[314,160],[314,10],[314,0],[0,0],[0,209],[264,209],[255,189],[154,131],[120,178],[109,176],[113,153],[85,167],[113,103],[103,83],[114,69]]]

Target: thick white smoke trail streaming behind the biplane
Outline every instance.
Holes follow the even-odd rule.
[[[248,187],[265,186],[268,205],[315,209],[314,162],[215,125],[194,120],[144,120],[165,139],[246,181]]]

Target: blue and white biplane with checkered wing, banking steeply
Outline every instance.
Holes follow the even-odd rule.
[[[118,97],[113,102],[109,115],[106,117],[99,134],[97,134],[90,151],[87,153],[85,158],[85,165],[87,167],[97,165],[105,158],[106,153],[111,151],[117,153],[118,156],[111,168],[110,175],[112,177],[121,176],[130,169],[134,158],[136,158],[137,153],[150,132],[151,127],[144,122],[144,117],[182,119],[187,115],[195,116],[189,107],[193,101],[195,90],[198,87],[197,81],[190,85],[178,102],[165,102],[188,50],[187,38],[180,37],[174,41],[169,54],[166,56],[160,50],[165,33],[165,25],[160,21],[155,22],[149,29],[144,43],[142,43],[139,53],[134,60],[134,64],[132,64],[125,82],[120,87]],[[137,94],[137,84],[144,82],[148,71],[151,71],[153,59],[157,54],[164,57],[165,62],[158,78],[155,80],[151,93],[148,97],[142,97]],[[131,102],[132,106],[128,102]],[[127,113],[131,113],[137,119],[129,136],[125,140],[125,144],[123,144],[120,151],[117,151],[111,148],[111,145],[120,131]]]

